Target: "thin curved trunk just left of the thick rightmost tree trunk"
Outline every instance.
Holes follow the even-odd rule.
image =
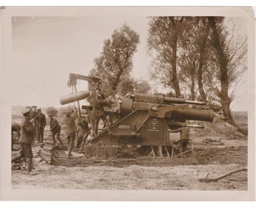
[[[198,89],[199,89],[199,93],[201,95],[201,99],[203,102],[207,102],[206,94],[205,94],[205,91],[203,90],[203,84],[202,84],[202,68],[203,68],[203,59],[205,58],[204,53],[205,53],[206,40],[207,40],[207,36],[209,33],[209,29],[210,29],[210,26],[208,24],[206,31],[205,31],[205,35],[203,35],[202,43],[200,45],[199,68],[198,68],[198,73],[197,73]]]

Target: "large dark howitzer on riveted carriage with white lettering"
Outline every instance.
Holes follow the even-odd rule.
[[[89,95],[85,92],[81,94],[84,95],[81,99]],[[65,103],[69,101],[74,100],[67,100],[65,97]],[[177,99],[164,94],[127,94],[120,97],[115,104],[117,107],[114,112],[106,112],[119,119],[110,126],[110,133],[108,130],[102,130],[91,140],[91,144],[101,145],[97,145],[97,148],[90,146],[86,149],[86,154],[94,157],[112,157],[120,149],[134,147],[143,156],[171,156],[171,130],[179,127],[203,127],[187,124],[186,120],[213,120],[212,111],[189,106],[206,105],[205,102]],[[91,106],[82,108],[90,111]]]

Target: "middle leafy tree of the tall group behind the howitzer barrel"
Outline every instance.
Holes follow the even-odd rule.
[[[178,66],[181,70],[180,84],[184,94],[190,83],[190,99],[197,96],[196,82],[200,93],[200,100],[207,102],[207,95],[203,89],[203,77],[207,68],[208,35],[210,26],[206,17],[185,17],[182,34],[179,36]],[[185,88],[185,89],[184,89]]]

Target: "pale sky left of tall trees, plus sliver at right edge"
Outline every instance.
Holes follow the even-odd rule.
[[[124,23],[140,39],[131,75],[149,79],[152,58],[147,52],[147,17],[13,18],[13,105],[61,107],[59,97],[71,90],[67,87],[69,73],[87,76],[102,51],[103,41]],[[243,106],[247,95],[246,76],[237,90],[234,111],[246,111]],[[87,82],[79,81],[77,87],[87,90]]]

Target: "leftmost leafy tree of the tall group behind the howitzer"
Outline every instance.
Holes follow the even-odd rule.
[[[181,97],[177,76],[177,46],[184,17],[150,17],[148,46],[155,53],[153,78],[174,89]]]

